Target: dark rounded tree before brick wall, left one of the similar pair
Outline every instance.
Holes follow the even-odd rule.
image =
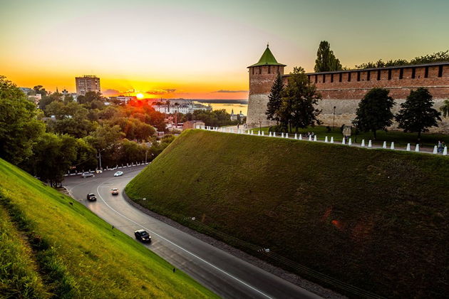
[[[394,100],[388,93],[390,90],[385,88],[373,88],[358,103],[356,119],[353,120],[358,130],[364,132],[373,132],[376,140],[377,130],[387,130],[387,127],[393,124],[393,112],[391,108]]]

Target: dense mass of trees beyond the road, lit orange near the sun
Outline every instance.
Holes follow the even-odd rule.
[[[156,157],[174,137],[158,140],[163,115],[140,102],[110,103],[100,93],[78,96],[48,93],[41,85],[39,107],[0,76],[0,157],[56,186],[63,174]],[[40,108],[40,109],[38,109]]]

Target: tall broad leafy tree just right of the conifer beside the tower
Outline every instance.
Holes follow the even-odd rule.
[[[321,110],[315,105],[321,100],[321,94],[316,91],[314,83],[309,82],[304,68],[295,67],[289,76],[289,84],[282,93],[282,105],[279,119],[285,129],[288,126],[296,128],[319,125],[318,115]]]

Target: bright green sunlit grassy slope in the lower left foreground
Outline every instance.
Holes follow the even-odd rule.
[[[216,297],[172,268],[82,204],[0,159],[1,298]]]

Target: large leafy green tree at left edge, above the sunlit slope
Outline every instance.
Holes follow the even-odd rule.
[[[21,164],[33,154],[33,146],[45,125],[36,118],[36,106],[10,80],[0,75],[0,157]]]

